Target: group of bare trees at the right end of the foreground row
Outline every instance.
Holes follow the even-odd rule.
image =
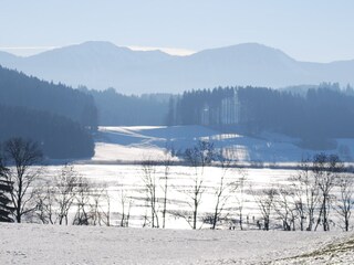
[[[339,157],[319,153],[303,160],[288,184],[263,189],[254,200],[264,230],[273,218],[285,231],[316,231],[319,226],[330,231],[336,224],[348,231],[353,194],[353,174]]]

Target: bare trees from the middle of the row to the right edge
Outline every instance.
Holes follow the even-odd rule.
[[[337,225],[345,231],[352,229],[350,219],[354,203],[353,174],[336,155],[315,155],[303,160],[298,166],[296,173],[285,183],[270,184],[269,188],[258,190],[248,187],[247,169],[225,159],[222,151],[216,151],[210,142],[199,141],[194,148],[187,149],[185,159],[191,168],[188,183],[184,180],[184,186],[170,188],[185,195],[185,205],[189,211],[166,211],[167,193],[164,193],[163,198],[157,197],[158,184],[155,177],[152,177],[152,172],[155,173],[156,170],[149,168],[150,161],[143,165],[144,178],[149,180],[145,181],[145,186],[149,194],[147,200],[150,202],[152,227],[158,227],[158,204],[162,199],[165,202],[164,223],[168,212],[173,216],[184,218],[191,229],[201,227],[204,224],[216,229],[223,222],[223,225],[233,225],[233,229],[239,224],[243,230],[246,202],[258,208],[258,213],[252,212],[253,227],[316,231],[322,226],[324,231],[329,231],[331,226]],[[210,166],[219,168],[212,186],[206,183],[204,176],[206,170],[211,169]],[[228,171],[232,171],[229,176],[233,178],[226,177]],[[165,191],[167,187],[166,184]],[[214,194],[214,211],[200,216],[199,208],[206,192]],[[249,214],[247,223],[250,224]]]

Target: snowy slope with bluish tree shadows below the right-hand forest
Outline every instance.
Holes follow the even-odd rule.
[[[337,147],[333,150],[309,150],[296,145],[299,139],[277,134],[251,137],[221,134],[202,126],[144,126],[100,127],[93,160],[132,162],[146,156],[158,159],[166,148],[184,151],[199,139],[215,142],[217,148],[223,148],[228,156],[241,161],[298,162],[320,151],[337,153],[344,161],[354,158],[353,139],[336,139]]]

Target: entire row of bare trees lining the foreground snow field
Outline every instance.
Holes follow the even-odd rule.
[[[42,152],[35,142],[13,138],[3,144],[0,157],[0,220],[3,222],[41,222],[60,225],[112,225],[111,194],[80,176],[73,166],[63,166],[51,178],[41,178]],[[317,153],[299,163],[285,183],[269,183],[254,189],[248,170],[226,159],[212,142],[198,141],[185,150],[189,163],[184,184],[174,186],[174,160],[170,153],[163,163],[146,160],[142,169],[142,197],[119,191],[118,225],[129,226],[131,210],[144,202],[143,226],[166,227],[168,218],[184,219],[191,229],[239,227],[284,231],[330,231],[339,226],[353,229],[353,173],[336,155]],[[163,173],[157,173],[163,167]],[[162,166],[163,165],[163,166]],[[214,184],[206,173],[218,168]],[[171,192],[183,198],[184,208],[174,202]],[[201,214],[206,193],[212,211]],[[138,202],[137,202],[138,201]],[[137,203],[136,203],[137,202]],[[256,205],[256,212],[246,210]],[[116,214],[116,213],[115,213]]]

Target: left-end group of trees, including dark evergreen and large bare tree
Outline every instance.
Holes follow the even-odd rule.
[[[21,223],[25,218],[32,222],[69,224],[69,215],[76,208],[71,216],[73,224],[110,225],[110,210],[102,206],[110,205],[105,189],[93,189],[72,166],[64,166],[53,177],[42,178],[42,159],[41,148],[31,140],[11,138],[3,144],[0,156],[1,220]]]

